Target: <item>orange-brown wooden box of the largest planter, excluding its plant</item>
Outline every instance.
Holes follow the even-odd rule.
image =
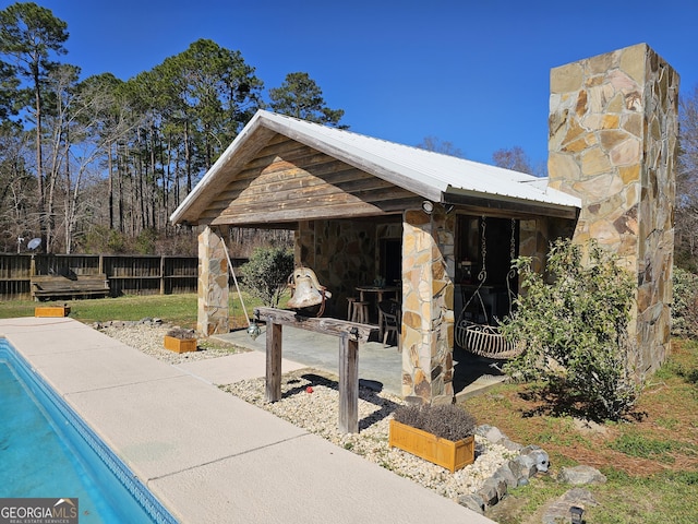
[[[450,473],[472,464],[476,460],[476,442],[472,436],[453,442],[396,420],[390,420],[388,444],[390,448],[399,448],[445,467]]]

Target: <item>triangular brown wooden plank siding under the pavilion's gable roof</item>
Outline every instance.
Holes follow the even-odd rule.
[[[410,191],[279,135],[220,189],[202,219],[241,225],[375,216],[419,201]]]

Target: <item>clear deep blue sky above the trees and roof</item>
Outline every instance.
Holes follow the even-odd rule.
[[[303,71],[352,131],[452,142],[492,163],[547,154],[550,69],[647,43],[698,84],[698,1],[35,0],[68,23],[63,60],[122,80],[198,38],[240,50],[265,87]],[[13,2],[0,1],[4,9]]]

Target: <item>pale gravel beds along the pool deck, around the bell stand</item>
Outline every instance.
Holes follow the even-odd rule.
[[[168,352],[163,348],[163,336],[172,326],[156,321],[110,322],[95,327],[169,364],[215,358],[236,352],[234,347],[181,355]],[[359,388],[359,433],[340,433],[337,429],[339,392],[336,378],[310,368],[286,373],[281,378],[281,400],[273,404],[264,401],[263,378],[220,385],[220,389],[454,500],[476,492],[486,478],[517,454],[476,434],[476,462],[452,474],[401,450],[390,449],[388,421],[395,408],[404,402],[365,386]]]

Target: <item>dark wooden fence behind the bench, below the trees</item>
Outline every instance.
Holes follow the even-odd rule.
[[[239,267],[246,259],[232,259]],[[196,257],[0,253],[0,300],[29,300],[33,275],[105,273],[111,296],[196,293]]]

